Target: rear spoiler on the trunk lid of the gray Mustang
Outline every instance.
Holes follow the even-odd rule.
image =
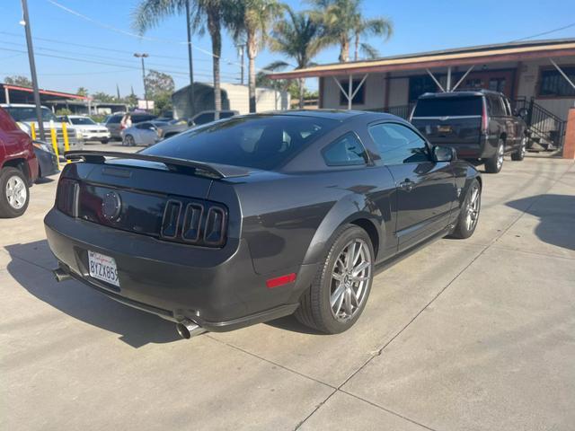
[[[142,160],[145,162],[163,163],[170,171],[179,171],[181,168],[191,168],[196,173],[212,178],[243,177],[250,173],[249,170],[228,164],[203,163],[193,160],[179,159],[176,157],[164,157],[162,155],[129,154],[117,151],[66,151],[67,160],[84,160],[87,163],[105,163],[106,158],[124,160]],[[117,161],[115,161],[117,162]]]

